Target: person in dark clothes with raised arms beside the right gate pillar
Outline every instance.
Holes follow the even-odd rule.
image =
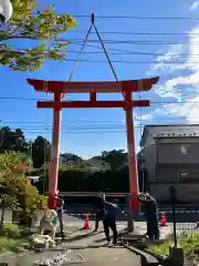
[[[144,205],[144,212],[147,223],[147,233],[150,241],[159,239],[158,209],[156,200],[148,193],[139,194],[138,201]]]

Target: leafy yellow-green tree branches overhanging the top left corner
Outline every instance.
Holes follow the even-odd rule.
[[[60,33],[76,25],[67,13],[57,14],[53,7],[41,9],[35,0],[11,0],[13,17],[0,24],[0,64],[12,70],[34,71],[45,60],[65,60],[69,42],[57,43]],[[31,40],[34,47],[20,49],[11,45],[10,40]],[[48,47],[45,40],[52,40]]]

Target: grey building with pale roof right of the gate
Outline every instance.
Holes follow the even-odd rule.
[[[199,201],[199,125],[146,125],[140,146],[151,195],[169,201],[172,183],[179,202]]]

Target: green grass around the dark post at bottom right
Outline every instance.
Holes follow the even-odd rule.
[[[166,241],[160,245],[153,245],[148,249],[150,252],[158,253],[160,255],[168,255],[169,247],[174,243],[171,239]],[[178,237],[178,246],[184,249],[185,257],[189,260],[197,259],[199,260],[199,233],[192,235],[181,235]]]

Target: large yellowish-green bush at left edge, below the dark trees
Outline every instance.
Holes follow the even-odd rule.
[[[38,188],[31,185],[19,165],[28,165],[28,156],[17,152],[0,154],[0,200],[1,207],[21,207],[25,214],[41,207],[45,200]]]

